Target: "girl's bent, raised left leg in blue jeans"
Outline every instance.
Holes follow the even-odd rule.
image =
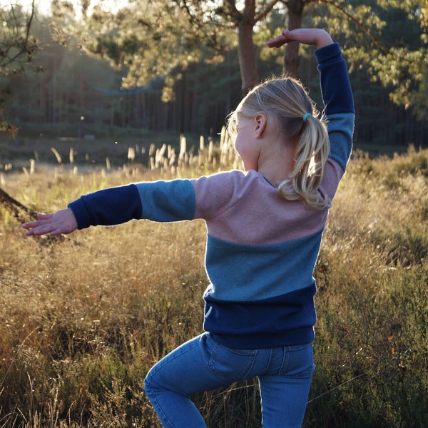
[[[164,427],[206,427],[189,396],[228,386],[244,378],[253,367],[255,352],[224,354],[223,347],[205,333],[185,342],[152,367],[144,389]]]

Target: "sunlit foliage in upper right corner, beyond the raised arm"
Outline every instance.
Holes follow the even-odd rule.
[[[426,123],[427,21],[424,0],[322,1],[315,23],[337,31],[350,63],[365,69],[399,106],[411,108]],[[320,11],[318,11],[320,12]],[[423,99],[422,99],[423,98]]]

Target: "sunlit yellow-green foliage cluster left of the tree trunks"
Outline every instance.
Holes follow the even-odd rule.
[[[198,13],[202,10],[199,2],[192,9],[198,9]],[[170,89],[180,79],[180,73],[190,63],[199,61],[204,51],[206,54],[205,46],[225,44],[227,38],[226,34],[218,34],[215,21],[210,21],[209,34],[205,34],[196,22],[198,15],[192,21],[188,13],[189,9],[179,7],[173,1],[143,4],[137,1],[123,6],[106,28],[108,13],[98,10],[88,18],[95,36],[87,41],[86,47],[95,54],[110,58],[116,66],[128,68],[123,81],[125,88],[148,86],[154,76],[168,76],[164,99],[171,101],[173,98],[167,94],[172,94]],[[215,52],[210,56],[215,56]]]

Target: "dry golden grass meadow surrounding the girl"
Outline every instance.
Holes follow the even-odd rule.
[[[0,170],[1,188],[51,212],[111,185],[239,167],[223,139],[190,150],[182,138],[176,153],[134,144],[121,166],[80,165],[65,147],[50,165],[40,155]],[[0,205],[0,427],[160,427],[143,379],[202,331],[204,224],[141,220],[27,238],[27,218]],[[355,151],[314,272],[305,428],[428,426],[427,253],[428,150]],[[255,381],[195,402],[210,428],[260,427]]]

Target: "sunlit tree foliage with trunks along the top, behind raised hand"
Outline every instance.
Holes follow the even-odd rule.
[[[273,36],[287,26],[327,27],[342,41],[351,66],[366,64],[371,81],[389,88],[394,103],[413,108],[419,117],[428,110],[427,6],[424,0],[136,0],[111,14],[101,7],[86,16],[93,37],[86,49],[128,66],[124,85],[165,78],[164,99],[173,98],[175,78],[189,63],[223,61],[237,49],[243,93],[259,81],[257,56],[261,35]],[[280,17],[280,19],[278,19]],[[107,24],[108,23],[108,24]],[[290,44],[284,71],[296,74],[299,46]]]

